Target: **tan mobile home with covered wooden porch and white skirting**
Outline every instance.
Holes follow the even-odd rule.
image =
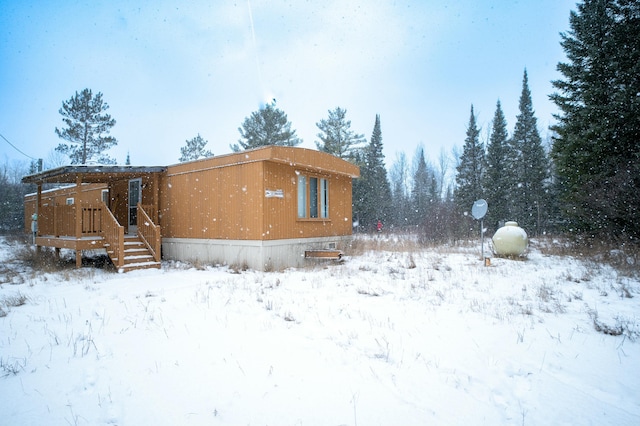
[[[161,258],[270,270],[336,253],[351,236],[357,166],[315,150],[268,146],[166,167],[65,166],[26,176],[36,245],[105,247],[123,270]],[[45,183],[74,183],[43,192]],[[72,201],[71,201],[72,200]],[[126,241],[148,253],[127,260]],[[305,256],[306,254],[306,256]]]

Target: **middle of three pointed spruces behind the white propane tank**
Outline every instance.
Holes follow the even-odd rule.
[[[507,120],[504,118],[500,101],[496,103],[491,136],[487,146],[486,170],[483,187],[485,199],[491,206],[485,223],[497,229],[499,222],[510,219],[509,190],[516,181],[512,177],[513,168],[509,156]]]

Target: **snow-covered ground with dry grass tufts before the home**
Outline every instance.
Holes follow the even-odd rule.
[[[3,425],[640,424],[640,281],[535,244],[268,273],[20,250],[0,239]]]

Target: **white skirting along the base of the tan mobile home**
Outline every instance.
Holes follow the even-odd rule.
[[[351,236],[265,241],[163,238],[162,257],[271,271],[303,267],[314,262],[305,259],[305,251],[344,250],[350,241]]]

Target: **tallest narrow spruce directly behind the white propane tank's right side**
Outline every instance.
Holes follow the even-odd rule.
[[[543,231],[548,212],[549,160],[538,132],[526,70],[522,78],[519,114],[516,116],[511,146],[515,152],[518,177],[517,185],[512,188],[515,191],[515,219],[524,229],[537,235]]]

